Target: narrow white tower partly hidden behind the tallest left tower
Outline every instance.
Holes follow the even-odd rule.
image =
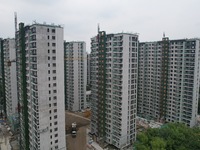
[[[15,39],[3,40],[6,115],[9,119],[17,111],[17,76]]]

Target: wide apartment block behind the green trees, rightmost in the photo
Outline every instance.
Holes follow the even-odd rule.
[[[139,44],[139,116],[196,124],[199,97],[200,40],[180,39]]]

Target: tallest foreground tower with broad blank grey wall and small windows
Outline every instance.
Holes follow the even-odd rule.
[[[19,24],[16,34],[21,150],[65,150],[63,28]]]

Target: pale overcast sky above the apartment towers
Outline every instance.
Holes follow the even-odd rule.
[[[140,41],[200,37],[200,0],[2,0],[0,37],[14,37],[18,23],[46,22],[64,27],[66,41],[86,41],[97,34],[139,33]]]

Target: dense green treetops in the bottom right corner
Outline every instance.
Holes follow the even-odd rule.
[[[200,129],[181,123],[168,123],[137,135],[136,150],[200,150]]]

